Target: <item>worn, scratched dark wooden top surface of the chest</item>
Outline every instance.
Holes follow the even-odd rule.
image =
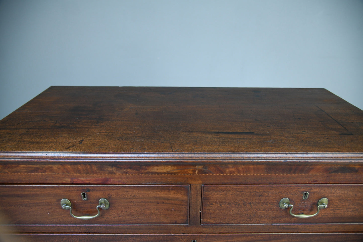
[[[53,86],[0,121],[0,151],[362,153],[363,111],[325,89]]]

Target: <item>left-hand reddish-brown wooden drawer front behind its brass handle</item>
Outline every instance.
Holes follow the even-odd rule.
[[[1,213],[10,224],[188,223],[189,185],[1,185],[0,198]],[[109,208],[81,220],[62,209],[63,198],[71,202],[74,216],[97,215],[101,198]]]

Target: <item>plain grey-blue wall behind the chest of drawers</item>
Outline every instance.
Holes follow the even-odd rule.
[[[3,0],[0,118],[52,85],[323,87],[363,109],[363,1]]]

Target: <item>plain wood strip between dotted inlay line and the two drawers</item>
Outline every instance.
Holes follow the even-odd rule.
[[[362,183],[363,174],[115,175],[2,173],[2,183],[63,184],[329,184]]]

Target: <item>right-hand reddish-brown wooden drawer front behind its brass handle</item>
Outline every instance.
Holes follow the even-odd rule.
[[[309,194],[307,194],[309,193]],[[292,214],[280,208],[289,198]],[[201,224],[356,223],[363,222],[362,185],[203,185]]]

